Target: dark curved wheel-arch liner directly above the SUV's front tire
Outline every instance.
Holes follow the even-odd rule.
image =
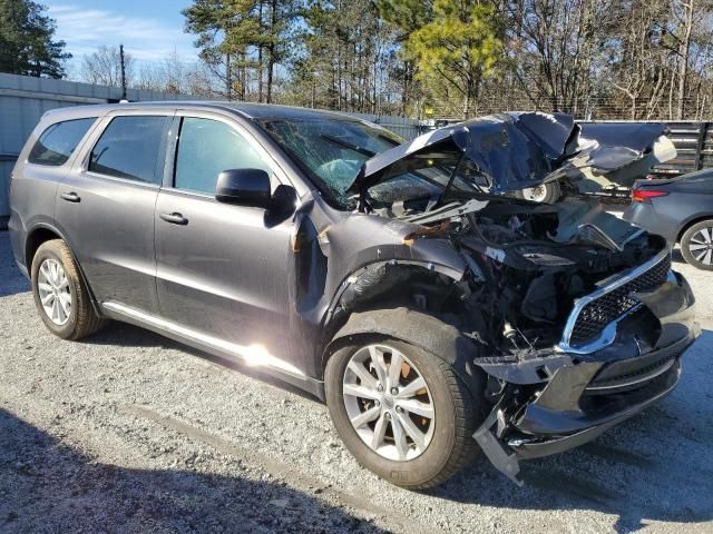
[[[485,373],[473,364],[479,347],[458,328],[442,320],[406,307],[373,309],[351,314],[338,330],[322,356],[322,368],[338,347],[368,334],[382,334],[416,345],[447,362],[478,398],[485,389]]]

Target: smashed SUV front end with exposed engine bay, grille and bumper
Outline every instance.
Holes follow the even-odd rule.
[[[519,482],[519,458],[593,439],[675,386],[700,334],[694,297],[663,238],[599,206],[462,206],[408,238],[446,238],[468,265],[436,313],[488,375],[492,409],[473,437]]]

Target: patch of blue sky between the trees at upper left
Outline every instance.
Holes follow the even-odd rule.
[[[76,67],[99,46],[124,44],[138,61],[155,61],[176,51],[186,62],[197,59],[195,36],[185,33],[180,10],[189,0],[45,0],[57,21],[56,38],[67,42]]]

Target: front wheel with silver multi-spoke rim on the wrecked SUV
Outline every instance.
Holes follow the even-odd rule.
[[[479,451],[470,392],[448,363],[408,343],[370,335],[339,348],[325,390],[346,448],[398,486],[442,484]]]

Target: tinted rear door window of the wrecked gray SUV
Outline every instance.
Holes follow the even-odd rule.
[[[159,184],[166,117],[115,117],[91,150],[89,170],[129,180]],[[163,165],[160,166],[163,168]]]

